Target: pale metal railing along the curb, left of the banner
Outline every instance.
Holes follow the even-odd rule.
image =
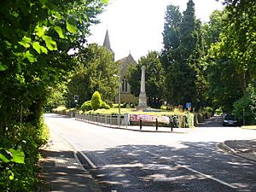
[[[129,121],[124,115],[75,114],[75,119],[110,127],[127,127]]]

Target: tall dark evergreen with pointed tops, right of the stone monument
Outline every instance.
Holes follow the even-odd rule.
[[[173,22],[171,16],[179,17],[177,8],[173,7],[166,12],[166,23]],[[166,99],[172,105],[192,102],[196,107],[202,103],[201,93],[205,86],[205,79],[201,73],[204,68],[201,61],[204,45],[201,22],[195,20],[195,4],[192,0],[187,3],[181,21],[177,24],[172,23],[171,26],[165,26],[163,32],[165,50],[162,54],[162,63],[166,67]],[[175,35],[173,28],[177,29]]]

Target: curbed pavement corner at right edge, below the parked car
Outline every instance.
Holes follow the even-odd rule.
[[[219,147],[248,160],[256,161],[256,139],[228,140],[220,143]]]

